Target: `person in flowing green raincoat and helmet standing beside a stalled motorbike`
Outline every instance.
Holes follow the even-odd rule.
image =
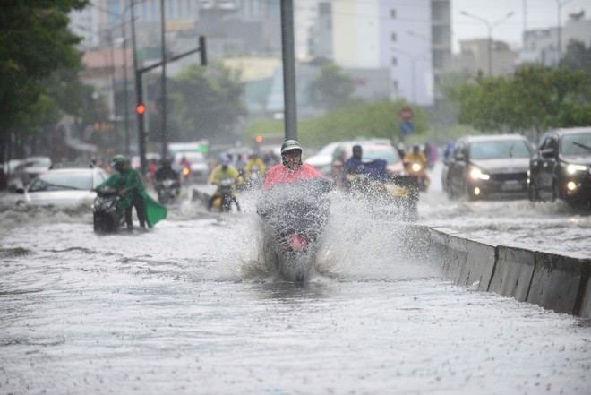
[[[132,209],[138,214],[141,228],[152,228],[160,219],[167,217],[167,209],[153,200],[143,189],[140,173],[127,165],[123,155],[113,158],[116,173],[97,187],[97,193],[116,191],[120,199],[116,202],[116,210],[125,211],[127,228],[133,228]]]

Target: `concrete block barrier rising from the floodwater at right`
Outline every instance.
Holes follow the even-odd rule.
[[[458,285],[591,318],[591,259],[497,245],[430,228],[433,259]]]

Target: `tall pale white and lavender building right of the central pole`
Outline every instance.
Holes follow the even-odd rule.
[[[298,9],[296,19],[311,18],[311,9]],[[316,11],[307,27],[306,56],[325,57],[343,68],[386,68],[392,99],[433,105],[434,84],[450,67],[449,0],[319,2]]]

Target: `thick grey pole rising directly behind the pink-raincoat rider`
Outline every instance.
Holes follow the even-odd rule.
[[[295,100],[294,3],[281,1],[281,47],[283,54],[283,102],[286,140],[297,140]]]

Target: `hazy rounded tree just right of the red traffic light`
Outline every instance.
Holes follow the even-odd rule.
[[[178,138],[229,140],[240,116],[246,114],[239,75],[221,64],[194,65],[173,79],[169,88]]]

